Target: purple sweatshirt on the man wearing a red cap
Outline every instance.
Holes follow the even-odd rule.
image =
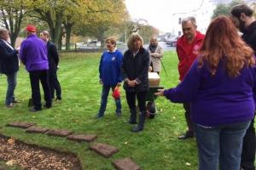
[[[49,69],[45,42],[36,35],[30,35],[21,43],[20,60],[26,65],[26,71],[44,71]]]

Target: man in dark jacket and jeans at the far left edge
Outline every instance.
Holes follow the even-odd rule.
[[[15,100],[15,87],[17,84],[17,71],[19,71],[18,51],[13,48],[9,41],[9,31],[0,28],[0,73],[7,76],[8,88],[6,93],[5,105],[13,108]]]

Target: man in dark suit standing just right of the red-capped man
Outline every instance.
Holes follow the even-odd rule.
[[[57,69],[59,64],[59,55],[57,48],[53,42],[49,41],[49,32],[42,31],[40,33],[41,39],[46,42],[47,45],[47,58],[49,61],[49,87],[51,98],[55,98],[56,91],[56,100],[61,100],[61,84],[58,81]]]

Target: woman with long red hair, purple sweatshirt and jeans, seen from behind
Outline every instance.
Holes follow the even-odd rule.
[[[174,103],[191,102],[199,170],[239,170],[242,139],[255,110],[253,49],[229,18],[212,20],[201,53],[183,82],[160,90]]]

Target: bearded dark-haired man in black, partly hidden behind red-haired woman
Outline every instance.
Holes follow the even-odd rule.
[[[253,48],[256,55],[256,20],[253,17],[253,9],[249,8],[246,4],[236,5],[231,9],[233,23],[242,34],[242,39]],[[255,90],[254,90],[255,91]],[[255,100],[255,94],[254,94]],[[243,138],[243,146],[241,152],[241,169],[242,170],[255,170],[255,129],[254,119],[250,127],[247,128],[247,133]]]

